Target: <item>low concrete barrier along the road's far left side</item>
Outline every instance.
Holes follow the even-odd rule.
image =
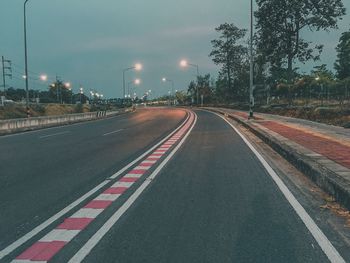
[[[118,111],[97,111],[88,113],[67,114],[58,116],[45,116],[34,118],[21,118],[0,121],[0,135],[21,131],[42,129],[47,127],[67,125],[76,122],[91,121],[107,117],[113,117],[122,113],[130,112],[131,109]]]

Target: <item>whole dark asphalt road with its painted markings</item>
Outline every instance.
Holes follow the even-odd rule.
[[[213,113],[139,109],[0,145],[0,262],[345,262]]]

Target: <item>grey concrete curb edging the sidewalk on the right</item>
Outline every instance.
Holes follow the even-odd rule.
[[[229,117],[248,128],[299,171],[307,175],[322,190],[333,196],[337,202],[350,210],[350,180],[346,180],[344,178],[345,176],[342,176],[340,172],[337,173],[326,166],[327,164],[332,164],[333,161],[330,161],[326,157],[322,158],[322,156],[320,158],[308,156],[290,144],[287,144],[286,142],[288,140],[280,141],[243,118],[217,109],[207,108],[207,110]],[[350,179],[350,177],[348,178]]]

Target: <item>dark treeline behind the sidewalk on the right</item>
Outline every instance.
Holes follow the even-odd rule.
[[[257,0],[254,35],[254,96],[256,104],[271,100],[293,104],[298,99],[334,100],[342,104],[350,94],[350,31],[344,32],[335,64],[317,65],[301,73],[296,65],[317,63],[323,43],[311,43],[308,32],[337,29],[345,15],[341,0]],[[249,99],[249,38],[246,29],[224,23],[216,28],[209,54],[220,71],[216,80],[200,76],[188,87],[188,96],[196,102],[197,88],[205,103],[247,103]],[[303,33],[303,34],[302,34]],[[190,99],[189,99],[190,100]],[[200,102],[200,101],[199,101]]]

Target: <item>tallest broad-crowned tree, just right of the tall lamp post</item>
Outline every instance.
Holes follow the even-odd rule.
[[[257,47],[274,66],[287,65],[287,80],[293,81],[293,64],[318,60],[322,45],[312,45],[301,32],[337,28],[345,14],[341,0],[257,0]]]

